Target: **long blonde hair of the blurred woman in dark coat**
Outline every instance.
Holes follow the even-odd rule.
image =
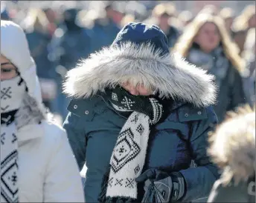
[[[243,72],[245,62],[239,56],[240,50],[237,47],[237,44],[231,41],[231,37],[229,36],[228,31],[225,28],[223,19],[218,16],[211,16],[206,13],[202,13],[196,16],[196,18],[193,19],[193,21],[191,21],[191,23],[188,24],[187,27],[185,27],[182,36],[179,37],[176,45],[173,47],[173,51],[179,53],[183,57],[187,57],[197,33],[199,32],[201,27],[207,22],[214,23],[217,26],[220,32],[220,41],[222,42],[225,56],[228,60],[231,61],[231,64],[233,64],[233,66],[239,72]]]

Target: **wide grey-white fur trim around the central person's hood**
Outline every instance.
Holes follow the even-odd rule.
[[[138,46],[131,42],[103,48],[68,71],[64,93],[74,98],[88,98],[106,87],[129,81],[196,107],[214,104],[214,76],[188,64],[177,54],[161,56],[160,51],[153,48],[150,44]]]

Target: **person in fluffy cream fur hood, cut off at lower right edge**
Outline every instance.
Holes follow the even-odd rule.
[[[240,107],[209,138],[208,149],[222,175],[211,190],[210,202],[255,202],[255,107]]]

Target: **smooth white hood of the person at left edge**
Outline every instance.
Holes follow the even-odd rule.
[[[45,117],[46,110],[42,104],[41,87],[36,76],[36,64],[31,58],[24,31],[13,21],[1,20],[1,55],[9,59],[18,68],[20,76],[28,87],[28,95],[31,97],[30,102],[34,100],[36,108]]]

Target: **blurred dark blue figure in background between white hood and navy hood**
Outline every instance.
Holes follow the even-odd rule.
[[[91,38],[88,30],[77,24],[77,13],[79,10],[71,8],[63,13],[63,24],[54,32],[54,36],[49,45],[49,58],[53,61],[55,68],[57,66],[65,67],[70,70],[77,64],[77,61],[84,59],[91,53]]]

